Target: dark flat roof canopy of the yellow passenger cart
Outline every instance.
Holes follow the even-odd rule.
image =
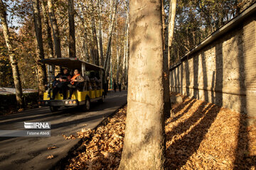
[[[90,64],[89,62],[85,62],[79,60],[78,58],[50,58],[41,60],[43,64],[55,65],[60,67],[66,67],[68,69],[81,69],[82,63],[85,63],[85,70],[87,71],[97,71],[103,69],[103,67],[97,66],[95,64]]]

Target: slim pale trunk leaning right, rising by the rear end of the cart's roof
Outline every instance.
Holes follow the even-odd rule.
[[[117,3],[118,3],[118,1],[116,0],[113,11],[112,11],[113,16],[112,16],[112,19],[111,19],[109,39],[107,41],[107,52],[106,52],[106,58],[105,58],[105,62],[104,62],[104,69],[105,70],[107,68],[107,60],[109,60],[109,57],[110,57],[109,53],[110,53],[110,50],[111,50],[112,33],[113,33],[113,30],[114,30],[114,17],[115,17],[115,14],[117,13]]]

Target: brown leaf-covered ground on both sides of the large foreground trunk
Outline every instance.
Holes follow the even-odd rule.
[[[255,169],[256,127],[246,128],[245,115],[182,98],[183,103],[173,106],[175,118],[166,119],[166,169]],[[126,111],[120,109],[97,130],[78,132],[76,137],[85,142],[65,169],[117,169]]]

